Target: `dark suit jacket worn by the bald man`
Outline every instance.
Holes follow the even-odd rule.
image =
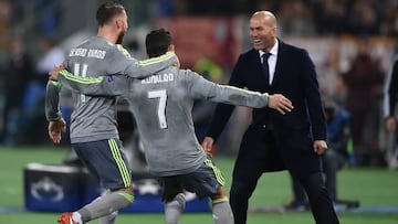
[[[313,151],[314,140],[326,140],[326,120],[315,66],[308,53],[279,40],[279,53],[272,84],[265,81],[259,52],[254,49],[239,56],[229,85],[247,87],[270,94],[283,94],[292,100],[294,109],[281,115],[270,108],[252,110],[252,126],[262,126],[271,119],[276,150],[284,164],[270,162],[268,171],[285,167],[298,175],[321,170],[321,158]],[[208,136],[217,139],[234,106],[218,105]],[[275,158],[269,158],[270,161]],[[266,161],[264,161],[266,162]]]

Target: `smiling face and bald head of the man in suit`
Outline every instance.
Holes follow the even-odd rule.
[[[255,12],[250,19],[250,38],[255,50],[270,52],[276,41],[276,19],[268,11]]]

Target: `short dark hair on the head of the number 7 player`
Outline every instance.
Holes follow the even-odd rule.
[[[149,57],[165,54],[171,43],[170,32],[163,28],[150,31],[145,39],[145,46]]]

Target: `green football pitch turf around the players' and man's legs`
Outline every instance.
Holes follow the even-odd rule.
[[[61,147],[0,147],[0,224],[56,223],[59,213],[24,210],[23,169],[30,162],[61,164],[66,153]],[[214,161],[231,182],[233,157],[217,156]],[[359,200],[358,209],[337,207],[343,224],[398,224],[398,171],[386,168],[345,168],[338,173],[338,195]],[[250,200],[248,224],[308,224],[310,212],[283,212],[292,199],[286,172],[264,174]],[[92,221],[90,223],[97,223]],[[118,224],[164,223],[161,213],[122,213]],[[185,213],[181,224],[213,223],[210,213]]]

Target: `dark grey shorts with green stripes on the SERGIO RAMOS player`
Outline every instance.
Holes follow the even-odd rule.
[[[132,185],[132,171],[121,140],[80,142],[72,147],[102,188],[116,190]]]

